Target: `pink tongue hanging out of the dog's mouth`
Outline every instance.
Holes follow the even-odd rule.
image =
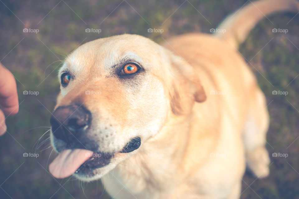
[[[55,178],[66,178],[88,160],[93,151],[85,149],[64,150],[49,165],[49,171]]]

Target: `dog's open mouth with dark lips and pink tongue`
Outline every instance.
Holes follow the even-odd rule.
[[[130,153],[139,148],[140,137],[135,137],[116,153]],[[49,165],[50,173],[55,178],[66,178],[72,174],[91,176],[95,169],[108,165],[116,153],[93,152],[86,149],[67,149]]]

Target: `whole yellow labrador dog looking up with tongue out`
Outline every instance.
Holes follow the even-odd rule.
[[[80,46],[59,71],[51,174],[101,178],[113,198],[239,198],[246,164],[269,174],[269,118],[236,48],[264,15],[298,10],[295,0],[261,0],[214,35],[161,46],[125,34]]]

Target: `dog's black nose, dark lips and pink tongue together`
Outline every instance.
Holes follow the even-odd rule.
[[[55,177],[64,178],[73,172],[90,175],[94,169],[110,164],[116,153],[130,153],[140,147],[140,137],[134,137],[116,153],[98,151],[98,143],[88,136],[91,121],[92,114],[83,105],[59,106],[54,111],[50,119],[53,136],[65,143],[63,149],[57,149],[60,154],[50,167]]]

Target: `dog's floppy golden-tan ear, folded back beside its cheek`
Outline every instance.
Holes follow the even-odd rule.
[[[170,87],[170,105],[177,115],[190,113],[194,102],[206,100],[206,94],[195,69],[182,58],[170,55],[172,85]]]

